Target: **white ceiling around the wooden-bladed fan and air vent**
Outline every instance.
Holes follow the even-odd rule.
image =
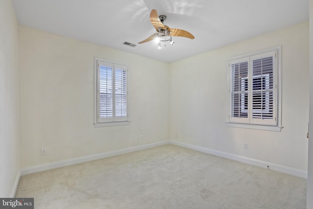
[[[174,62],[309,20],[309,0],[12,0],[18,23],[122,51]],[[156,32],[150,12],[195,39],[157,48],[137,43]],[[122,45],[124,41],[137,46]]]

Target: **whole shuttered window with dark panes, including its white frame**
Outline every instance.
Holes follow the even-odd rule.
[[[280,131],[279,49],[275,47],[229,61],[228,126]]]

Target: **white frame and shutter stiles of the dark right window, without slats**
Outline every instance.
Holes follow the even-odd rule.
[[[256,58],[252,59],[253,57],[257,57],[258,55],[261,55],[263,53],[275,53],[275,59],[273,60],[273,65],[275,66],[275,70],[273,72],[273,80],[274,80],[274,102],[275,102],[275,110],[273,116],[275,117],[275,123],[267,124],[262,122],[255,122],[253,121],[252,116],[248,116],[248,118],[238,118],[236,120],[231,119],[231,110],[232,110],[232,103],[231,103],[231,62],[235,60],[241,60],[246,61],[248,60],[248,76],[253,79],[252,76],[250,76],[250,73],[252,72],[252,65],[253,60],[257,60]],[[250,59],[251,58],[251,59]],[[241,56],[232,57],[228,59],[228,121],[226,122],[226,125],[228,127],[237,127],[237,128],[249,128],[249,129],[259,129],[259,130],[269,130],[269,131],[281,131],[282,129],[282,121],[281,121],[281,115],[282,115],[282,82],[281,82],[281,46],[274,46],[267,49],[247,53]],[[263,76],[263,75],[260,75]],[[253,81],[252,81],[253,82]],[[240,81],[241,87],[243,81]],[[248,83],[248,86],[251,86],[251,82]],[[248,95],[251,96],[253,93],[252,89],[249,89]],[[241,95],[242,96],[242,95]],[[240,103],[240,106],[242,103]],[[252,107],[252,101],[249,99],[248,108],[250,109]],[[253,110],[249,110],[250,113],[252,113]],[[256,111],[256,110],[255,110]],[[262,110],[260,110],[262,111]],[[248,112],[248,111],[247,111]]]

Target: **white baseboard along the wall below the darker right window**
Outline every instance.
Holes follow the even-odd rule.
[[[191,144],[187,144],[187,143],[183,143],[183,142],[179,142],[179,141],[170,141],[171,144],[177,145],[177,146],[181,146],[181,147],[185,147],[188,149],[193,149],[196,151],[200,151],[203,153],[207,153],[207,154],[211,154],[211,155],[215,155],[215,156],[219,156],[219,157],[223,157],[223,158],[227,158],[230,160],[234,160],[234,161],[238,161],[241,163],[246,163],[246,164],[251,164],[251,165],[255,165],[255,166],[259,166],[259,167],[264,167],[264,168],[268,168],[271,170],[275,170],[281,173],[287,173],[293,176],[297,176],[297,177],[301,177],[304,179],[308,178],[308,172],[304,171],[304,170],[299,170],[296,168],[292,168],[292,167],[288,167],[288,166],[284,166],[284,165],[279,165],[279,164],[275,164],[275,163],[269,163],[269,162],[265,162],[265,161],[259,161],[256,159],[252,159],[252,158],[246,158],[244,156],[240,156],[240,155],[234,155],[234,154],[230,154],[230,153],[226,153],[226,152],[221,152],[218,150],[212,150],[212,149],[208,149],[208,148],[204,148],[201,146],[195,146],[195,145],[191,145]]]

